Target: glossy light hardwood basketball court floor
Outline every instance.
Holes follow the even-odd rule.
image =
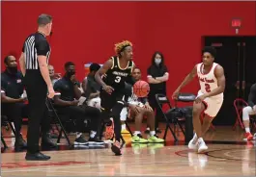
[[[183,139],[180,133],[180,139]],[[177,176],[254,175],[254,143],[242,141],[242,130],[216,127],[206,139],[209,150],[197,154],[183,142],[174,144],[169,134],[166,145],[130,144],[123,156],[106,148],[47,151],[47,162],[26,162],[25,152],[2,153],[2,176]],[[125,138],[128,141],[128,137]],[[10,142],[9,142],[10,143]],[[63,148],[65,149],[65,148]]]

